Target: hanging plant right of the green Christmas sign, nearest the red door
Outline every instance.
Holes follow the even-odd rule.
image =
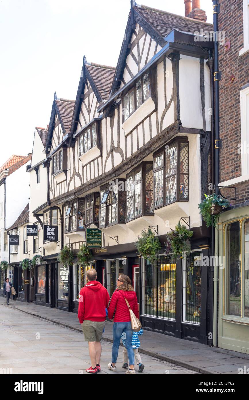
[[[141,236],[137,236],[137,242],[135,242],[135,246],[139,254],[141,254],[141,256],[149,260],[151,263],[158,260],[158,253],[161,249],[161,243],[150,228],[145,228],[142,230]]]

